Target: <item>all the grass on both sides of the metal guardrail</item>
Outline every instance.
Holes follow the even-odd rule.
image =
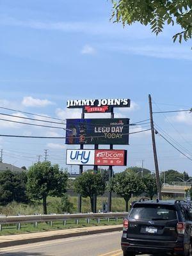
[[[72,209],[72,213],[77,212],[77,196],[69,196],[68,199],[74,205]],[[164,200],[170,198],[163,198]],[[133,200],[138,200],[138,198],[132,198],[129,203]],[[102,203],[108,202],[108,198],[99,196],[97,198],[97,211],[102,209]],[[47,212],[61,214],[63,212],[60,211],[61,198],[49,197],[47,198]],[[125,201],[123,198],[114,197],[112,198],[111,210],[113,212],[124,212],[125,211]],[[82,212],[90,212],[90,200],[89,198],[82,199]],[[0,206],[0,213],[6,216],[14,216],[14,215],[33,215],[33,214],[43,214],[42,202],[34,202],[33,204],[19,204],[16,202],[12,202],[6,206]],[[68,220],[67,225],[63,225],[62,221],[53,221],[53,225],[49,225],[49,223],[38,223],[38,227],[34,227],[33,223],[24,223],[21,225],[21,229],[17,230],[17,225],[3,225],[3,230],[0,232],[1,235],[8,234],[21,234],[28,232],[39,232],[46,230],[58,230],[65,228],[77,228],[77,227],[91,227],[97,225],[116,225],[121,224],[122,219],[119,219],[117,222],[115,220],[100,220],[100,223],[97,223],[96,220],[92,220],[90,224],[86,223],[86,220],[79,220],[78,225],[74,220]]]

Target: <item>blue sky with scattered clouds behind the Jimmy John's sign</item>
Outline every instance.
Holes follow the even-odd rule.
[[[148,93],[160,109],[191,108],[191,42],[173,44],[177,27],[157,37],[139,24],[124,29],[109,22],[111,7],[103,0],[0,0],[0,106],[68,118],[79,112],[66,110],[67,99],[126,97],[132,108],[116,109],[116,116],[131,122],[148,118]],[[192,157],[191,115],[155,115],[154,121]],[[0,133],[64,135],[60,129],[3,121]],[[30,166],[49,148],[52,163],[66,167],[64,141],[1,138],[0,145],[6,163]],[[130,146],[122,148],[129,166],[144,159],[154,170],[149,133],[131,136]],[[159,136],[157,148],[160,170],[192,175],[191,161]]]

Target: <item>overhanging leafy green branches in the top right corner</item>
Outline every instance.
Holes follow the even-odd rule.
[[[164,25],[179,25],[181,31],[173,36],[173,42],[189,40],[192,36],[192,2],[191,0],[111,0],[113,13],[111,19],[132,25],[140,22],[150,25],[153,33],[158,35]]]

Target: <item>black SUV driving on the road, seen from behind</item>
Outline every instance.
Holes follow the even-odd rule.
[[[192,256],[192,207],[184,200],[135,202],[124,220],[124,256]]]

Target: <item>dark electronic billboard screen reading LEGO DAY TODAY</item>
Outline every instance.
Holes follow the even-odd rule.
[[[65,143],[129,145],[129,118],[67,119]]]

